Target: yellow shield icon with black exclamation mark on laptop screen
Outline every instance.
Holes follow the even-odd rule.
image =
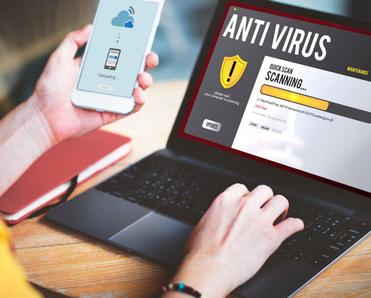
[[[234,87],[242,78],[248,62],[243,60],[240,55],[224,57],[220,70],[220,83],[224,89]]]

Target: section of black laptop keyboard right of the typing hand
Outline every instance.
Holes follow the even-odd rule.
[[[294,201],[288,216],[303,219],[305,229],[286,240],[275,256],[324,267],[370,231],[370,225],[319,206]]]

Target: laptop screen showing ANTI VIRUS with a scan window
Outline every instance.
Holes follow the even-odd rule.
[[[371,36],[230,2],[181,136],[371,193]]]

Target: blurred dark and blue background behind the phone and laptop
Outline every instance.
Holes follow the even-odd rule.
[[[186,80],[218,0],[167,0],[154,44],[156,80]],[[276,0],[370,21],[370,0]],[[98,0],[0,0],[0,119],[33,90],[64,35],[92,22]]]

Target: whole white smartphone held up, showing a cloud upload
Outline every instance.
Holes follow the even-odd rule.
[[[100,0],[72,103],[128,114],[165,0]]]

